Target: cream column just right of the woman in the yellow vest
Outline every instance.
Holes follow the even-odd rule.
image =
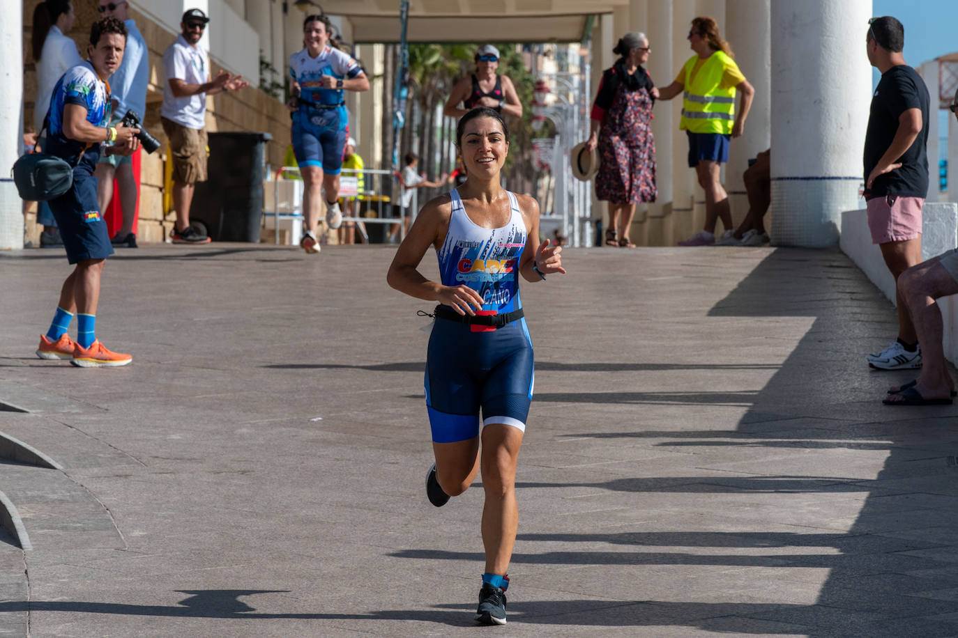
[[[742,75],[755,87],[752,108],[745,120],[741,138],[733,140],[728,152],[725,171],[725,190],[728,191],[732,221],[738,227],[748,212],[748,198],[741,173],[748,167],[748,159],[768,148],[771,143],[771,21],[770,0],[735,0],[725,6],[723,34],[732,45],[735,61]],[[736,109],[739,108],[736,97]]]

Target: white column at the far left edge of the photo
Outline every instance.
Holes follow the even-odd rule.
[[[10,167],[23,147],[23,3],[7,3],[0,24],[0,249],[23,248],[23,201]]]

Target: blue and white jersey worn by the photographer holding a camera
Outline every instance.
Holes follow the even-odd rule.
[[[70,164],[75,165],[80,152],[83,152],[83,164],[96,168],[100,159],[100,144],[87,144],[69,140],[63,135],[63,109],[67,104],[78,104],[86,109],[86,121],[105,128],[110,121],[110,87],[93,70],[89,61],[71,68],[57,81],[50,110],[47,111],[47,129],[49,130],[47,147],[43,150],[53,153]]]

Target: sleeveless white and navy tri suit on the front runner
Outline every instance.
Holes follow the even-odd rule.
[[[449,230],[437,252],[443,284],[465,284],[478,292],[484,315],[522,307],[519,257],[526,245],[526,225],[515,195],[507,194],[513,211],[509,223],[484,229],[468,218],[459,192],[450,191]],[[443,309],[445,313],[438,312]],[[535,382],[526,319],[493,327],[442,317],[453,312],[439,307],[429,337],[425,403],[432,440],[455,443],[478,436],[480,408],[484,426],[501,423],[525,431]]]

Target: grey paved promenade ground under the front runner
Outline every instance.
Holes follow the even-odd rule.
[[[881,405],[914,374],[867,367],[895,313],[844,255],[744,248],[523,285],[509,625],[473,627],[482,488],[425,499],[392,255],[121,251],[97,333],[134,361],[80,369],[34,357],[62,253],[0,253],[0,432],[54,466],[0,462],[0,635],[958,636],[958,406]]]

